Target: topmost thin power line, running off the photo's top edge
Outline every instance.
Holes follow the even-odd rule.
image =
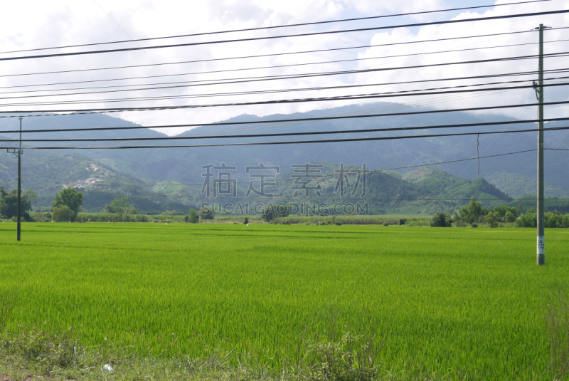
[[[33,49],[23,49],[18,51],[5,51],[1,52],[0,54],[6,53],[22,53],[26,51],[46,51],[50,49],[62,49],[62,48],[78,48],[83,46],[101,46],[101,45],[109,45],[113,43],[131,43],[131,42],[140,42],[140,41],[154,41],[154,40],[163,40],[167,38],[182,38],[182,37],[196,37],[196,36],[208,36],[213,34],[221,34],[221,33],[235,33],[235,32],[244,32],[244,31],[260,31],[260,30],[267,30],[267,29],[274,29],[274,28],[292,28],[296,26],[308,26],[308,25],[319,25],[319,24],[333,24],[333,23],[341,23],[347,21],[362,21],[362,20],[372,20],[372,19],[386,19],[388,17],[397,17],[397,16],[413,16],[418,14],[433,14],[433,13],[440,13],[440,12],[448,12],[448,11],[465,11],[467,9],[479,9],[479,8],[491,8],[495,6],[508,6],[508,5],[519,5],[519,4],[531,4],[531,3],[541,3],[544,1],[551,1],[551,0],[533,0],[533,1],[519,1],[516,3],[506,3],[506,4],[491,4],[491,5],[482,5],[482,6],[467,6],[462,8],[451,8],[451,9],[438,9],[435,11],[421,11],[421,12],[410,12],[405,14],[389,14],[383,16],[368,16],[368,17],[358,17],[354,19],[339,19],[339,20],[330,20],[330,21],[315,21],[311,23],[302,23],[302,24],[289,24],[289,25],[278,25],[278,26],[262,26],[258,28],[245,28],[245,29],[233,29],[230,31],[215,31],[215,32],[205,32],[205,33],[191,33],[191,34],[181,34],[177,36],[164,36],[164,37],[151,37],[151,38],[137,38],[131,40],[122,40],[122,41],[108,41],[108,42],[101,42],[101,43],[82,43],[78,45],[67,45],[67,46],[53,46],[51,48],[33,48]]]

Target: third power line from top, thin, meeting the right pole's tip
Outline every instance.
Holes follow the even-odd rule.
[[[562,28],[551,28],[548,30],[556,31],[560,29],[568,29],[569,26],[565,26]],[[506,36],[510,34],[519,34],[519,33],[531,33],[533,31],[516,31],[516,32],[506,32],[506,33],[491,33],[491,34],[479,34],[476,36],[463,36],[463,37],[451,37],[451,38],[437,38],[433,40],[421,40],[421,41],[405,41],[405,42],[398,42],[398,43],[380,43],[374,45],[362,45],[362,46],[349,46],[346,48],[329,48],[329,49],[317,49],[312,51],[296,51],[296,52],[289,52],[289,53],[271,53],[271,54],[262,54],[257,56],[236,56],[236,57],[226,57],[226,58],[208,58],[203,60],[193,60],[193,61],[176,61],[176,62],[164,62],[164,63],[147,63],[144,65],[127,65],[127,66],[110,66],[107,68],[90,68],[90,69],[77,69],[77,70],[67,70],[67,71],[44,71],[38,73],[15,73],[15,74],[4,74],[0,75],[2,77],[14,77],[14,76],[24,76],[24,75],[43,75],[43,74],[58,74],[58,73],[80,73],[83,71],[103,71],[103,70],[115,70],[115,69],[124,69],[124,68],[143,68],[149,66],[163,66],[163,65],[179,65],[182,63],[201,63],[201,62],[212,62],[212,61],[227,61],[227,60],[237,60],[237,59],[245,59],[245,58],[263,58],[263,57],[274,57],[274,56],[289,56],[292,54],[304,54],[304,53],[322,53],[328,51],[344,51],[350,49],[361,49],[361,48],[375,48],[378,46],[395,46],[395,45],[407,45],[410,43],[428,43],[428,42],[438,42],[438,41],[452,41],[452,40],[460,40],[464,38],[480,38],[480,37],[492,37],[492,36]],[[554,42],[554,41],[551,41]]]

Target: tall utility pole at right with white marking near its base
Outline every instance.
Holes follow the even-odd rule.
[[[543,198],[545,196],[543,179],[543,29],[550,28],[539,24],[534,30],[539,31],[539,83],[533,83],[538,96],[538,242],[537,242],[537,263],[546,264],[546,233],[545,217],[543,215]]]

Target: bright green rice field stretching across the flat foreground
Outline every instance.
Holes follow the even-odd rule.
[[[15,302],[5,334],[71,330],[79,348],[111,345],[164,363],[218,354],[232,369],[280,374],[303,363],[314,343],[351,332],[373,338],[385,374],[545,380],[546,316],[569,281],[569,234],[546,231],[542,267],[535,234],[26,223],[16,243],[6,222],[0,291]]]

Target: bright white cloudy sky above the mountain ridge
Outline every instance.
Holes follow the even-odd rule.
[[[388,14],[432,11],[464,6],[497,5],[514,0],[423,0],[423,1],[374,1],[374,0],[85,0],[85,1],[11,1],[4,4],[3,23],[0,24],[0,58],[25,56],[36,53],[63,53],[73,51],[96,51],[102,48],[156,46],[172,43],[196,43],[260,36],[282,36],[290,33],[311,33],[351,28],[373,28],[430,21],[471,19],[476,17],[501,16],[536,11],[569,9],[569,0],[552,0],[541,3],[512,6],[493,6],[468,11],[448,11],[434,14],[398,16],[366,21],[350,21],[317,26],[273,28],[262,31],[245,31],[168,38],[156,41],[111,44],[80,48],[59,48],[48,51],[14,52],[22,49],[50,48],[82,43],[102,43],[139,38],[176,36],[181,34],[228,31],[240,28],[283,26],[289,24],[329,21]],[[525,0],[524,0],[525,1]],[[569,26],[569,14],[531,16],[495,21],[443,24],[352,33],[322,34],[294,38],[202,44],[176,48],[155,48],[141,51],[87,54],[55,58],[34,58],[18,61],[0,61],[0,110],[49,110],[89,109],[139,106],[171,105],[216,105],[220,103],[245,103],[262,100],[329,97],[366,93],[385,93],[401,90],[420,90],[455,85],[472,85],[500,80],[533,80],[535,75],[515,78],[486,78],[473,80],[443,80],[430,83],[403,83],[410,80],[432,80],[471,75],[536,71],[536,59],[476,63],[469,65],[435,66],[430,68],[402,69],[404,66],[422,66],[434,63],[484,60],[538,53],[538,33],[529,32],[539,24],[554,28]],[[457,38],[481,34],[523,31],[506,36]],[[569,51],[569,29],[545,31],[545,53]],[[425,40],[445,41],[421,42]],[[558,41],[558,42],[549,42]],[[396,45],[385,46],[386,44]],[[508,46],[516,44],[518,46]],[[525,44],[525,45],[519,45]],[[365,47],[371,45],[382,45]],[[330,48],[363,48],[341,51],[288,54],[299,51],[314,51]],[[497,47],[496,47],[497,46]],[[490,48],[494,47],[494,48]],[[469,49],[469,50],[465,50]],[[462,50],[447,53],[437,51]],[[271,54],[279,56],[267,56]],[[432,53],[432,54],[423,54]],[[393,57],[400,55],[403,56]],[[238,58],[219,60],[219,58]],[[390,56],[385,58],[386,56]],[[203,61],[216,59],[218,61]],[[200,61],[177,63],[181,61]],[[321,63],[326,61],[344,61]],[[547,58],[545,68],[566,68],[567,58]],[[299,66],[302,64],[302,66]],[[117,66],[140,66],[137,68],[114,68]],[[297,66],[290,66],[297,65]],[[267,68],[267,66],[285,66]],[[86,69],[105,70],[86,70]],[[109,69],[112,68],[112,69]],[[389,68],[390,70],[329,75],[311,78],[262,80],[248,83],[204,85],[208,80],[238,80],[237,78],[298,73],[321,73],[355,69]],[[66,71],[66,73],[46,73]],[[216,72],[216,73],[203,73]],[[34,75],[15,75],[46,73]],[[184,75],[180,75],[184,74]],[[564,74],[550,74],[546,78],[558,78]],[[155,76],[154,78],[133,78]],[[133,78],[133,79],[121,79]],[[98,81],[85,83],[85,81]],[[190,82],[191,81],[191,82]],[[202,82],[199,82],[202,81]],[[555,81],[555,80],[554,80]],[[563,82],[563,80],[557,80]],[[49,85],[53,84],[53,85]],[[154,84],[154,85],[153,85]],[[191,85],[190,85],[191,84]],[[197,85],[199,84],[199,85]],[[523,83],[526,84],[526,83]],[[153,90],[125,90],[130,88],[162,87]],[[176,85],[176,88],[164,86]],[[303,88],[352,85],[352,88],[328,90],[301,90]],[[100,88],[106,86],[105,88]],[[111,87],[112,86],[112,87]],[[85,89],[87,87],[98,89]],[[258,95],[220,95],[243,91],[290,90],[287,93]],[[31,93],[30,91],[34,92]],[[38,91],[44,90],[44,91]],[[112,93],[102,91],[114,90]],[[93,94],[76,94],[97,91]],[[75,95],[60,96],[63,93]],[[546,88],[546,101],[569,100],[564,86]],[[26,98],[33,95],[33,98]],[[201,95],[196,98],[196,95]],[[176,99],[153,99],[112,102],[111,99],[139,97],[171,97]],[[189,98],[193,96],[194,98]],[[16,98],[19,97],[19,98]],[[185,97],[185,98],[184,98]],[[57,104],[96,100],[97,103]],[[533,89],[500,90],[484,93],[452,95],[408,96],[385,98],[385,101],[400,103],[398,110],[417,105],[432,108],[465,108],[514,103],[535,103]],[[211,123],[237,115],[274,115],[305,112],[315,109],[334,108],[341,105],[373,103],[377,100],[333,100],[316,103],[291,103],[277,105],[233,105],[201,107],[184,110],[154,110],[110,113],[109,115],[145,126],[164,124]],[[35,105],[23,105],[36,103]],[[41,104],[37,104],[41,103]],[[55,104],[46,104],[55,103]],[[372,106],[369,106],[372,110]],[[381,111],[374,109],[374,112]],[[499,110],[511,118],[536,118],[536,108]],[[332,114],[333,111],[330,111]],[[546,118],[569,116],[568,106],[548,106]],[[188,127],[162,130],[174,135]]]

